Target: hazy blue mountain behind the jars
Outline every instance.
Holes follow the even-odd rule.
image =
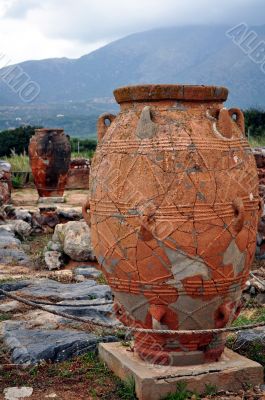
[[[40,86],[39,96],[28,107],[89,102],[97,114],[101,98],[105,103],[114,88],[136,83],[224,85],[230,90],[230,105],[265,107],[265,74],[227,37],[228,28],[156,29],[127,36],[79,59],[20,63],[18,68]],[[258,40],[265,39],[265,25],[251,29]],[[0,70],[0,76],[4,72]],[[1,80],[0,106],[19,104],[23,102],[18,94]],[[105,110],[109,111],[108,104]]]

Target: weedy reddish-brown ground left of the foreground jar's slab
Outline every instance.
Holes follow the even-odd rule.
[[[8,363],[8,357],[0,342],[0,364]],[[24,386],[25,383],[37,390],[56,385],[67,391],[74,385],[77,399],[82,394],[89,399],[136,400],[134,380],[129,378],[122,382],[92,352],[55,364],[43,362],[28,366],[19,373],[16,368],[1,371],[1,387]]]

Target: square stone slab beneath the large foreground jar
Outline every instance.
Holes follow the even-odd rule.
[[[176,392],[180,381],[200,394],[209,384],[218,390],[238,391],[246,384],[263,383],[260,364],[227,348],[218,362],[182,367],[148,364],[121,343],[100,343],[99,356],[120,379],[134,378],[139,400],[163,399]]]

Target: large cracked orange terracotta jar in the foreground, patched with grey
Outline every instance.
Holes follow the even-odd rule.
[[[114,95],[121,109],[99,118],[84,216],[117,317],[156,330],[229,326],[261,207],[243,114],[224,108],[223,87],[142,85]],[[224,340],[135,333],[134,348],[151,363],[196,364],[218,360]]]

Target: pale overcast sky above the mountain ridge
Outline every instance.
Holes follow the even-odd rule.
[[[265,0],[0,0],[0,54],[76,58],[134,32],[241,22],[265,24]]]

